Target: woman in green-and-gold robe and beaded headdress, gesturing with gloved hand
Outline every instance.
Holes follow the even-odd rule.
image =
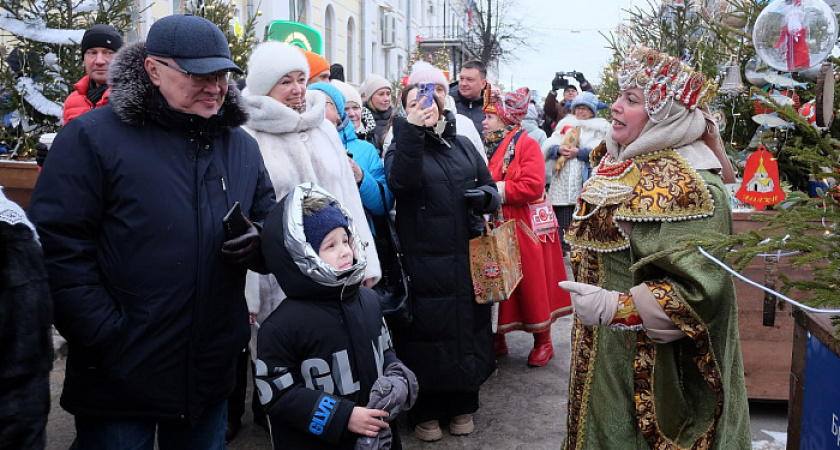
[[[734,178],[704,76],[630,51],[611,133],[568,236],[575,279],[567,449],[749,449],[732,277],[696,249],[729,233]],[[700,109],[698,109],[700,108]]]

